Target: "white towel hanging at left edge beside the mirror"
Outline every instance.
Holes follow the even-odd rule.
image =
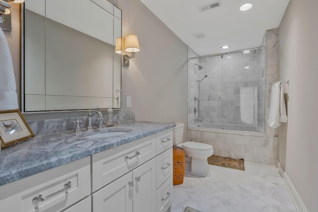
[[[18,109],[13,65],[8,43],[0,27],[0,110]]]

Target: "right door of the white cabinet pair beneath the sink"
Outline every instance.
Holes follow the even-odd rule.
[[[133,170],[134,212],[154,212],[156,210],[156,158]]]

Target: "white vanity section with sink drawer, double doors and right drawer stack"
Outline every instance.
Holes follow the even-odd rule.
[[[92,211],[169,212],[172,164],[172,129],[92,155]]]

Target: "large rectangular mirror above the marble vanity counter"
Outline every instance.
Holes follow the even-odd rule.
[[[107,0],[27,0],[22,111],[121,108],[121,10]]]

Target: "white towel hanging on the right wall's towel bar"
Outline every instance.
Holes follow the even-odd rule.
[[[287,122],[287,115],[284,89],[281,88],[281,81],[279,81],[272,86],[267,124],[272,128],[277,128],[282,122]]]

